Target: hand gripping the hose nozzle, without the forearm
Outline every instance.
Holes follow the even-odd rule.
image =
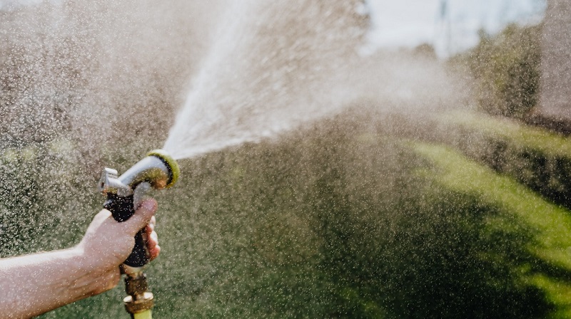
[[[154,199],[143,201],[139,209],[126,221],[117,222],[111,212],[103,209],[91,221],[81,243],[76,247],[84,256],[84,263],[89,265],[98,276],[98,288],[94,294],[107,291],[117,285],[121,273],[119,265],[126,260],[133,246],[135,234],[145,228],[147,248],[151,260],[158,256],[161,247],[154,231],[157,203]]]

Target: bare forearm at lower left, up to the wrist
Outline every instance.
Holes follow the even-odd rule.
[[[118,269],[94,269],[80,246],[0,259],[0,309],[30,318],[106,291],[118,276]]]

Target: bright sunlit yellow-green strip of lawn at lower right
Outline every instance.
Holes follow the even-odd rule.
[[[547,202],[514,179],[498,175],[487,167],[468,160],[448,147],[416,143],[413,148],[434,164],[423,174],[444,187],[473,194],[485,205],[502,211],[492,227],[510,227],[512,220],[522,221],[532,231],[526,249],[538,261],[523,262],[524,281],[547,293],[555,305],[553,318],[571,316],[571,214],[561,206]]]

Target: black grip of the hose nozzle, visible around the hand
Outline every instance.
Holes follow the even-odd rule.
[[[133,195],[119,196],[118,194],[107,193],[107,200],[103,204],[103,208],[111,211],[113,219],[116,221],[126,221],[135,214],[133,204]],[[150,260],[146,242],[143,239],[144,229],[141,229],[135,235],[135,246],[131,255],[129,255],[124,264],[131,267],[145,266]]]

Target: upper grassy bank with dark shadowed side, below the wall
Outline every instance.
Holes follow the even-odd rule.
[[[571,139],[473,112],[433,117],[441,140],[571,209]]]

